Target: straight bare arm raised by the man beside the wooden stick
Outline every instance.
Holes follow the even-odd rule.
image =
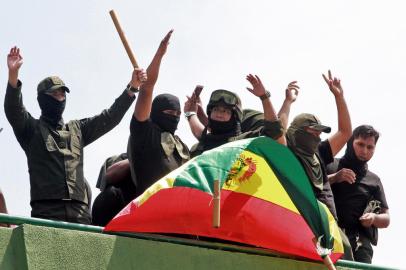
[[[152,94],[154,91],[154,86],[158,80],[159,68],[161,66],[161,61],[168,48],[169,40],[171,38],[173,30],[169,31],[168,34],[161,41],[158,50],[155,53],[151,64],[147,68],[147,81],[141,86],[140,93],[138,95],[137,102],[134,108],[134,117],[140,121],[146,121],[149,119],[152,106]]]

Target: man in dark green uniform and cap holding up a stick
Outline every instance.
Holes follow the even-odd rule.
[[[23,64],[14,47],[7,57],[9,80],[4,99],[6,116],[28,162],[31,216],[90,224],[91,192],[83,172],[83,148],[113,129],[135,99],[128,89],[101,114],[64,123],[62,114],[70,90],[56,76],[37,87],[40,119],[25,109],[18,72]],[[130,85],[138,87],[146,74],[134,70]]]

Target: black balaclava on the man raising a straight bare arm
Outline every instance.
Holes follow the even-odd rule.
[[[164,110],[180,111],[179,99],[171,94],[161,94],[154,98],[151,108],[151,120],[162,130],[175,133],[180,120],[179,116],[166,114]]]

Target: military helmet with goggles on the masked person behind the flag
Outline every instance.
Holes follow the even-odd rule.
[[[238,122],[242,121],[241,99],[236,93],[224,89],[213,91],[207,104],[207,115],[210,117],[211,110],[219,105],[231,107]]]

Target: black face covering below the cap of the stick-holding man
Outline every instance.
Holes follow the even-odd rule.
[[[63,101],[58,101],[50,95],[39,93],[37,100],[39,107],[41,108],[41,118],[47,123],[56,127],[62,120],[62,114],[66,105],[66,98]]]

